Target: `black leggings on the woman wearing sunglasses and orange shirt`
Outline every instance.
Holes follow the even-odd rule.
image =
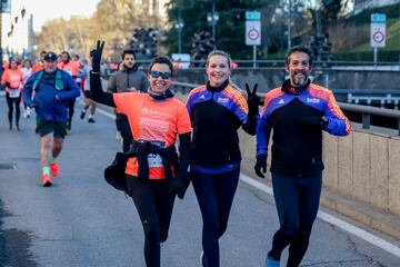
[[[127,187],[143,226],[146,266],[160,267],[160,243],[168,238],[174,196],[169,194],[166,180],[127,175]]]

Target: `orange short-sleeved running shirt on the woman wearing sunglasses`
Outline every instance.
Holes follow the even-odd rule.
[[[177,136],[191,131],[187,108],[176,98],[157,101],[147,93],[113,93],[117,112],[128,117],[133,140],[151,141],[160,147],[169,147],[177,141]],[[163,179],[164,169],[160,156],[149,155],[149,178]],[[138,176],[138,160],[130,158],[126,174]]]

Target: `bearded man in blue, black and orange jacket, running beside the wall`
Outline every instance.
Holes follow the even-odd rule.
[[[273,129],[270,170],[280,228],[273,235],[267,267],[280,266],[281,253],[287,246],[287,266],[300,265],[319,208],[322,130],[334,136],[347,136],[351,130],[332,91],[310,82],[311,67],[312,58],[307,48],[296,47],[288,52],[286,71],[290,79],[267,92],[257,129],[254,170],[262,178]]]

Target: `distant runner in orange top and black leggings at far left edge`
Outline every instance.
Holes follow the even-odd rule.
[[[1,85],[4,86],[8,106],[10,130],[12,130],[12,113],[16,109],[16,128],[19,131],[21,90],[23,85],[22,71],[18,69],[17,60],[10,59],[8,69],[1,76]]]

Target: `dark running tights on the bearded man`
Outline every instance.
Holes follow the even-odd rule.
[[[289,245],[288,267],[297,267],[309,246],[312,224],[319,208],[322,172],[310,177],[288,177],[272,172],[279,230],[273,235],[269,255],[280,259]]]

